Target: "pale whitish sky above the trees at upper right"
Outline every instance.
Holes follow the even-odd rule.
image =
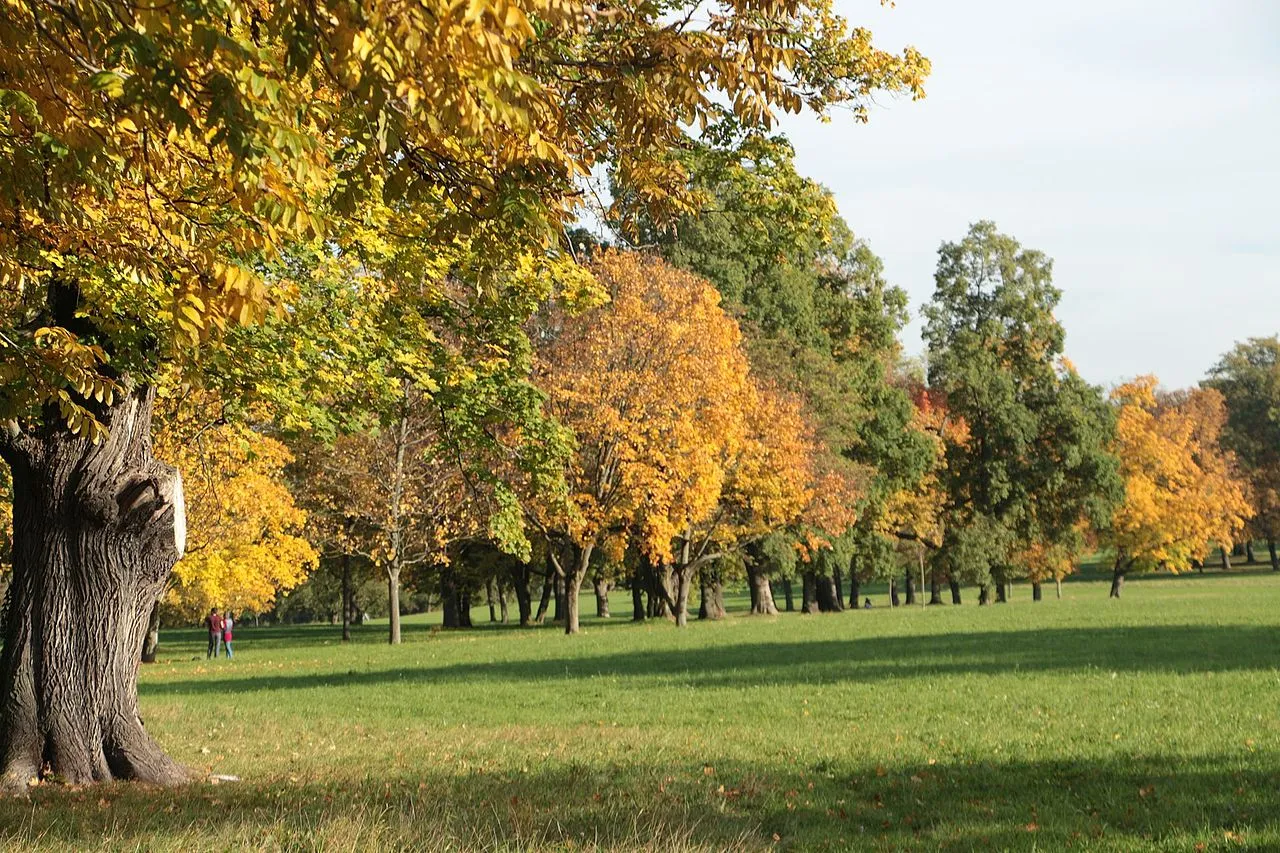
[[[1280,333],[1280,0],[840,5],[929,56],[928,99],[782,129],[913,314],[938,243],[993,219],[1055,259],[1068,355],[1093,382],[1192,384],[1234,341]]]

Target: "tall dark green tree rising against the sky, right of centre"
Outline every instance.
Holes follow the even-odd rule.
[[[938,250],[925,307],[931,388],[964,419],[947,444],[940,560],[1004,601],[1019,548],[1071,542],[1082,516],[1106,515],[1119,493],[1101,389],[1062,355],[1052,261],[974,224]]]

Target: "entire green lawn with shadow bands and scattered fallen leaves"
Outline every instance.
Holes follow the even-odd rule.
[[[398,648],[248,628],[215,662],[170,631],[146,724],[242,781],[42,786],[0,844],[1280,849],[1280,576],[1047,593],[576,638],[413,619]]]

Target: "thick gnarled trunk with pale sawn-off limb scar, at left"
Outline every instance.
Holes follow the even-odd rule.
[[[95,406],[93,444],[56,412],[0,424],[13,473],[13,578],[0,653],[0,793],[69,784],[177,784],[188,772],[138,717],[140,651],[186,547],[182,478],[151,456],[148,388]]]

